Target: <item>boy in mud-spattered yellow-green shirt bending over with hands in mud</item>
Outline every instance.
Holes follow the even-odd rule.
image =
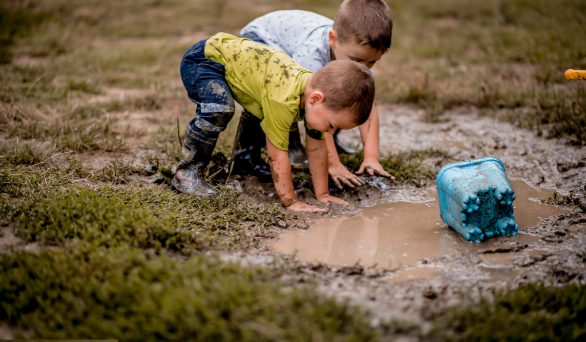
[[[180,66],[189,99],[197,104],[189,122],[181,160],[172,181],[179,192],[209,197],[216,194],[203,178],[220,131],[234,115],[234,100],[260,121],[254,136],[265,136],[271,175],[282,204],[294,211],[318,212],[298,201],[287,153],[289,127],[305,121],[309,172],[318,201],[347,205],[329,195],[328,150],[323,133],[348,130],[364,123],[374,99],[374,79],[360,63],[339,60],[316,73],[270,46],[217,33],[187,50]]]

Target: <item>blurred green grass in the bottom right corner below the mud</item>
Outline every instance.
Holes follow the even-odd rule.
[[[434,317],[433,334],[450,341],[582,341],[586,286],[533,284]]]

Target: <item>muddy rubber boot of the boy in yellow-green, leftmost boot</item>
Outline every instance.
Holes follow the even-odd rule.
[[[181,160],[171,181],[171,189],[197,197],[213,197],[218,193],[207,184],[203,171],[206,170],[216,147],[217,134],[209,137],[206,131],[190,126],[185,130]]]

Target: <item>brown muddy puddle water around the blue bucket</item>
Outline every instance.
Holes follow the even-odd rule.
[[[511,185],[516,194],[513,207],[520,231],[536,225],[542,218],[567,212],[540,202],[540,199],[550,197],[552,190],[535,189],[522,180],[513,180]],[[427,189],[427,192],[434,194],[433,201],[387,202],[370,206],[357,214],[321,218],[309,230],[284,233],[269,247],[283,253],[297,252],[297,258],[302,261],[331,266],[359,263],[365,267],[397,270],[394,282],[435,276],[435,267],[422,265],[420,260],[475,252],[486,248],[486,242],[469,243],[445,225],[440,217],[435,189]],[[520,232],[506,239],[531,243],[540,238]],[[483,259],[490,267],[511,263],[515,256],[496,253]]]

